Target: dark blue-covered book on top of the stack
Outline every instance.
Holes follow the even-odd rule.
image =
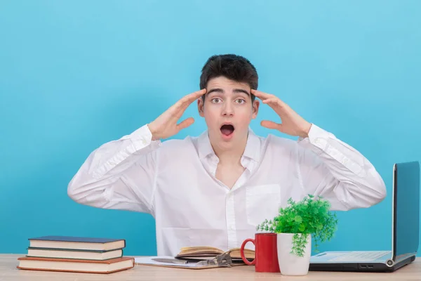
[[[42,236],[29,238],[29,247],[76,249],[86,251],[112,251],[126,247],[126,240],[99,237]]]

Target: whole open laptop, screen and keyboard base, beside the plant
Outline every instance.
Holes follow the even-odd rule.
[[[313,271],[392,272],[412,263],[420,237],[420,163],[394,164],[392,250],[323,251],[310,257]]]

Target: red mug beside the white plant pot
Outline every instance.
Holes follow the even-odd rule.
[[[255,239],[248,238],[241,244],[240,254],[244,263],[255,266],[256,272],[279,273],[276,233],[255,233]],[[244,256],[247,242],[255,244],[255,259],[248,261]]]

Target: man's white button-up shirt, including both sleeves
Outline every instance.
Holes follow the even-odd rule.
[[[321,195],[333,210],[349,210],[386,195],[368,159],[315,124],[298,141],[249,130],[241,165],[243,174],[227,188],[215,178],[218,157],[207,131],[161,142],[145,125],[93,151],[68,195],[92,207],[152,214],[160,256],[189,246],[240,247],[290,197]]]

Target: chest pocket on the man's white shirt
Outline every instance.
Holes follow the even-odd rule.
[[[255,185],[246,188],[247,222],[252,226],[271,220],[281,207],[281,186],[279,184]]]

